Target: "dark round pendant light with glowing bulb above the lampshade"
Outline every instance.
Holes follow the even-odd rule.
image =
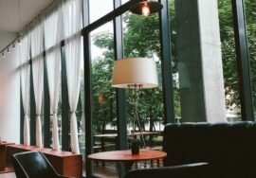
[[[143,0],[132,6],[130,11],[138,15],[148,16],[152,13],[160,11],[162,8],[163,5],[159,2]]]

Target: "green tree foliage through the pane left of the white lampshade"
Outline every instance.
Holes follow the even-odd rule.
[[[107,124],[116,125],[116,95],[111,86],[114,64],[113,34],[100,33],[93,38],[93,43],[103,49],[103,58],[92,63],[94,129],[102,133]]]

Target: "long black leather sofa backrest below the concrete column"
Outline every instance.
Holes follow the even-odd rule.
[[[255,174],[255,122],[169,124],[163,135],[165,166],[208,162],[226,172]]]

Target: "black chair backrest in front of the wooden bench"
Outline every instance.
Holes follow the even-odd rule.
[[[55,178],[58,177],[46,156],[39,151],[16,153],[12,156],[17,178]]]

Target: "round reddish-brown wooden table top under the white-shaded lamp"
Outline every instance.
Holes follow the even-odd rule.
[[[164,151],[139,150],[139,154],[132,154],[127,151],[103,151],[88,155],[89,159],[109,162],[145,161],[164,158],[167,153]]]

